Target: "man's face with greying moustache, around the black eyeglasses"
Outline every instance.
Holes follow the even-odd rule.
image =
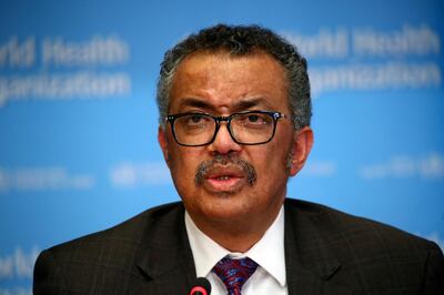
[[[261,110],[290,118],[285,81],[279,62],[262,52],[244,57],[195,53],[183,60],[175,72],[169,113],[226,116]],[[235,143],[225,122],[214,142],[204,146],[181,146],[170,125],[159,130],[175,187],[198,226],[225,221],[273,221],[285,197],[287,177],[302,167],[301,157],[306,157],[301,155],[300,136],[289,119],[280,119],[273,140],[260,145]]]

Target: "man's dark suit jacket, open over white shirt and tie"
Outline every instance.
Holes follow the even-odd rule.
[[[444,294],[436,244],[309,202],[284,207],[291,295]],[[186,294],[195,269],[183,214],[163,205],[43,251],[34,294]]]

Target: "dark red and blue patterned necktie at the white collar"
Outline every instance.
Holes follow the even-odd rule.
[[[241,289],[246,279],[256,271],[258,263],[249,257],[231,260],[228,256],[220,260],[213,267],[226,287],[228,295],[241,295]]]

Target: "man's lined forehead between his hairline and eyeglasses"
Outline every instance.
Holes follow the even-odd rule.
[[[215,112],[254,106],[285,111],[286,84],[283,67],[266,53],[198,52],[178,67],[169,109],[171,113],[196,105]]]

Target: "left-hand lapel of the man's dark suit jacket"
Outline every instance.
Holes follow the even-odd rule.
[[[155,217],[148,222],[139,251],[137,265],[144,282],[135,294],[186,294],[195,281],[195,267],[183,205]]]

